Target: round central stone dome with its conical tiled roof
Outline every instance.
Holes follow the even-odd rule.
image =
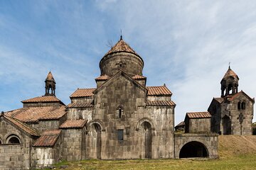
[[[101,75],[112,76],[120,69],[130,76],[141,75],[144,62],[127,42],[120,40],[100,60]]]

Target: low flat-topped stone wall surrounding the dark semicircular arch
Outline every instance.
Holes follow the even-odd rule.
[[[188,142],[200,142],[203,144],[210,159],[218,158],[218,135],[216,134],[179,134],[175,135],[175,158],[179,158],[181,148]]]

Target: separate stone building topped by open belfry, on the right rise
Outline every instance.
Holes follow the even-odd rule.
[[[254,98],[238,92],[238,75],[228,68],[221,84],[220,98],[213,98],[208,108],[212,115],[210,129],[223,135],[252,135]]]

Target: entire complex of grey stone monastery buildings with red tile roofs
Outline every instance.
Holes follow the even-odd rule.
[[[1,113],[0,169],[41,168],[62,160],[216,158],[218,135],[252,134],[255,100],[238,91],[232,69],[208,111],[186,113],[174,127],[171,91],[146,86],[143,67],[142,57],[121,36],[100,60],[95,87],[77,89],[67,106],[55,96],[49,72],[44,96]]]

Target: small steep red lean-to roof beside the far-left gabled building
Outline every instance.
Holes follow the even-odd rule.
[[[61,130],[46,130],[41,137],[36,140],[33,147],[53,147],[57,142]]]

